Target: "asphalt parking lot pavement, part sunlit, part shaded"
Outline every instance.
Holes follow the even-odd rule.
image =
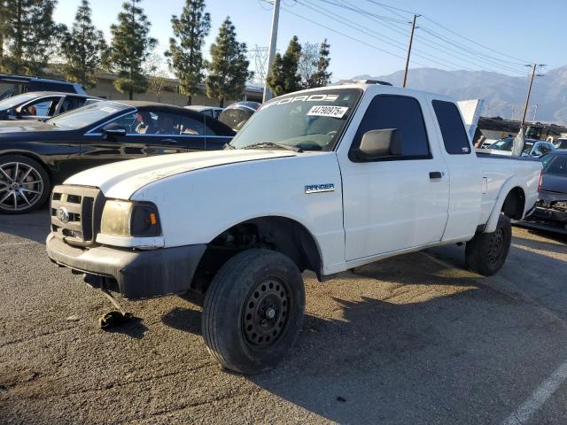
[[[464,248],[305,274],[307,316],[274,371],[221,370],[198,297],[111,309],[45,254],[48,215],[0,216],[0,423],[567,423],[567,236],[514,228],[485,278]]]

